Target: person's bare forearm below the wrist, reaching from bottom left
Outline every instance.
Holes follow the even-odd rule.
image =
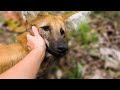
[[[0,75],[2,79],[34,79],[44,59],[45,51],[32,50],[22,61]]]

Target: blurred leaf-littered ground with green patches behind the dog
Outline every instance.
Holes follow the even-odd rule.
[[[74,11],[51,11],[54,14]],[[69,53],[41,79],[120,78],[120,11],[94,11],[89,21],[68,33]],[[13,43],[25,31],[19,11],[0,11],[0,43]],[[12,33],[15,31],[17,33]]]

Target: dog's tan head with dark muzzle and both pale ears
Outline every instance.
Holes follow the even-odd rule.
[[[89,12],[81,11],[65,15],[52,15],[42,11],[23,11],[23,18],[28,25],[35,25],[44,38],[47,50],[54,56],[64,56],[68,52],[66,33],[77,29]]]

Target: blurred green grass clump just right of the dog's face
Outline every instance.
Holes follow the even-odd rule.
[[[85,47],[88,47],[90,43],[96,43],[98,41],[97,32],[91,30],[87,22],[81,23],[77,31],[71,31],[68,34],[69,40],[72,37],[76,38],[76,41],[80,42],[81,45]]]

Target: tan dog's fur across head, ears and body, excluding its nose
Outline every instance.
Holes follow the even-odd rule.
[[[65,15],[51,15],[43,11],[23,11],[22,15],[28,23],[28,26],[26,26],[27,31],[33,35],[31,26],[35,25],[41,30],[41,36],[46,41],[48,52],[52,56],[61,57],[66,53],[58,54],[56,47],[60,44],[67,46],[65,41],[67,30],[71,29],[71,26],[72,29],[77,29],[77,26],[88,13],[83,11]],[[46,26],[47,29],[44,30]],[[27,32],[18,35],[16,42],[13,44],[0,44],[0,73],[18,63],[30,52],[27,48],[26,34]]]

